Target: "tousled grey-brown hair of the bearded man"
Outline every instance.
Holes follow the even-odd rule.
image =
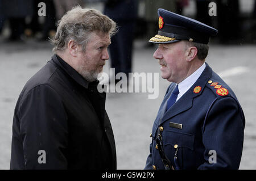
[[[90,33],[95,31],[109,33],[112,36],[117,32],[117,26],[112,19],[98,10],[73,7],[57,23],[57,32],[50,39],[55,46],[52,51],[56,53],[58,50],[64,50],[69,40],[76,41],[85,51]]]

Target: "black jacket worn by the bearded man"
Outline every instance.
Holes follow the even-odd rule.
[[[10,169],[116,169],[106,94],[97,85],[54,55],[16,103]]]

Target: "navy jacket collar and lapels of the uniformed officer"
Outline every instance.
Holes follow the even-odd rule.
[[[200,75],[200,77],[197,79],[197,81],[193,84],[193,86],[190,87],[189,90],[187,92],[185,92],[185,94],[183,96],[181,96],[181,98],[179,100],[177,100],[177,102],[174,104],[174,106],[172,106],[169,110],[167,110],[165,113],[163,113],[162,123],[164,121],[167,121],[171,117],[177,115],[178,113],[184,112],[184,111],[188,110],[189,108],[191,108],[192,103],[193,103],[193,98],[201,95],[206,83],[208,82],[209,78],[212,75],[212,69],[210,68],[210,66],[207,63],[205,63],[205,65],[206,65],[206,67],[205,67],[203,73]],[[194,89],[197,86],[201,87],[201,90],[198,93],[195,93]],[[168,94],[167,94],[168,97],[171,95],[171,92],[173,91],[174,88],[175,88],[175,86],[172,86],[172,89],[170,89],[168,91]],[[163,110],[166,110],[166,106],[167,106],[167,101],[163,105]]]

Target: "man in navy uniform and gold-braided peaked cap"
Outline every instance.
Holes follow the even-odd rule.
[[[152,128],[144,169],[238,169],[245,117],[236,95],[205,62],[217,30],[159,9],[154,53],[172,82]]]

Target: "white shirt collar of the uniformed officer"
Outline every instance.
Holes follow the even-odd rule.
[[[203,65],[200,66],[193,74],[189,75],[189,77],[185,78],[179,85],[179,94],[177,96],[176,101],[183,95],[185,92],[189,90],[189,88],[197,81],[200,75],[203,73],[206,65],[205,62]]]

